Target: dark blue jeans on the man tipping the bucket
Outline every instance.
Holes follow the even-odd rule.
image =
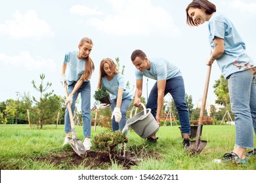
[[[166,80],[164,95],[167,93],[170,93],[173,97],[175,107],[178,110],[179,120],[181,123],[181,133],[183,135],[190,135],[189,113],[188,106],[185,101],[185,88],[182,76]],[[151,108],[151,113],[156,118],[156,110],[158,109],[158,82],[154,84],[150,92],[146,108]],[[161,110],[161,108],[158,110]]]

